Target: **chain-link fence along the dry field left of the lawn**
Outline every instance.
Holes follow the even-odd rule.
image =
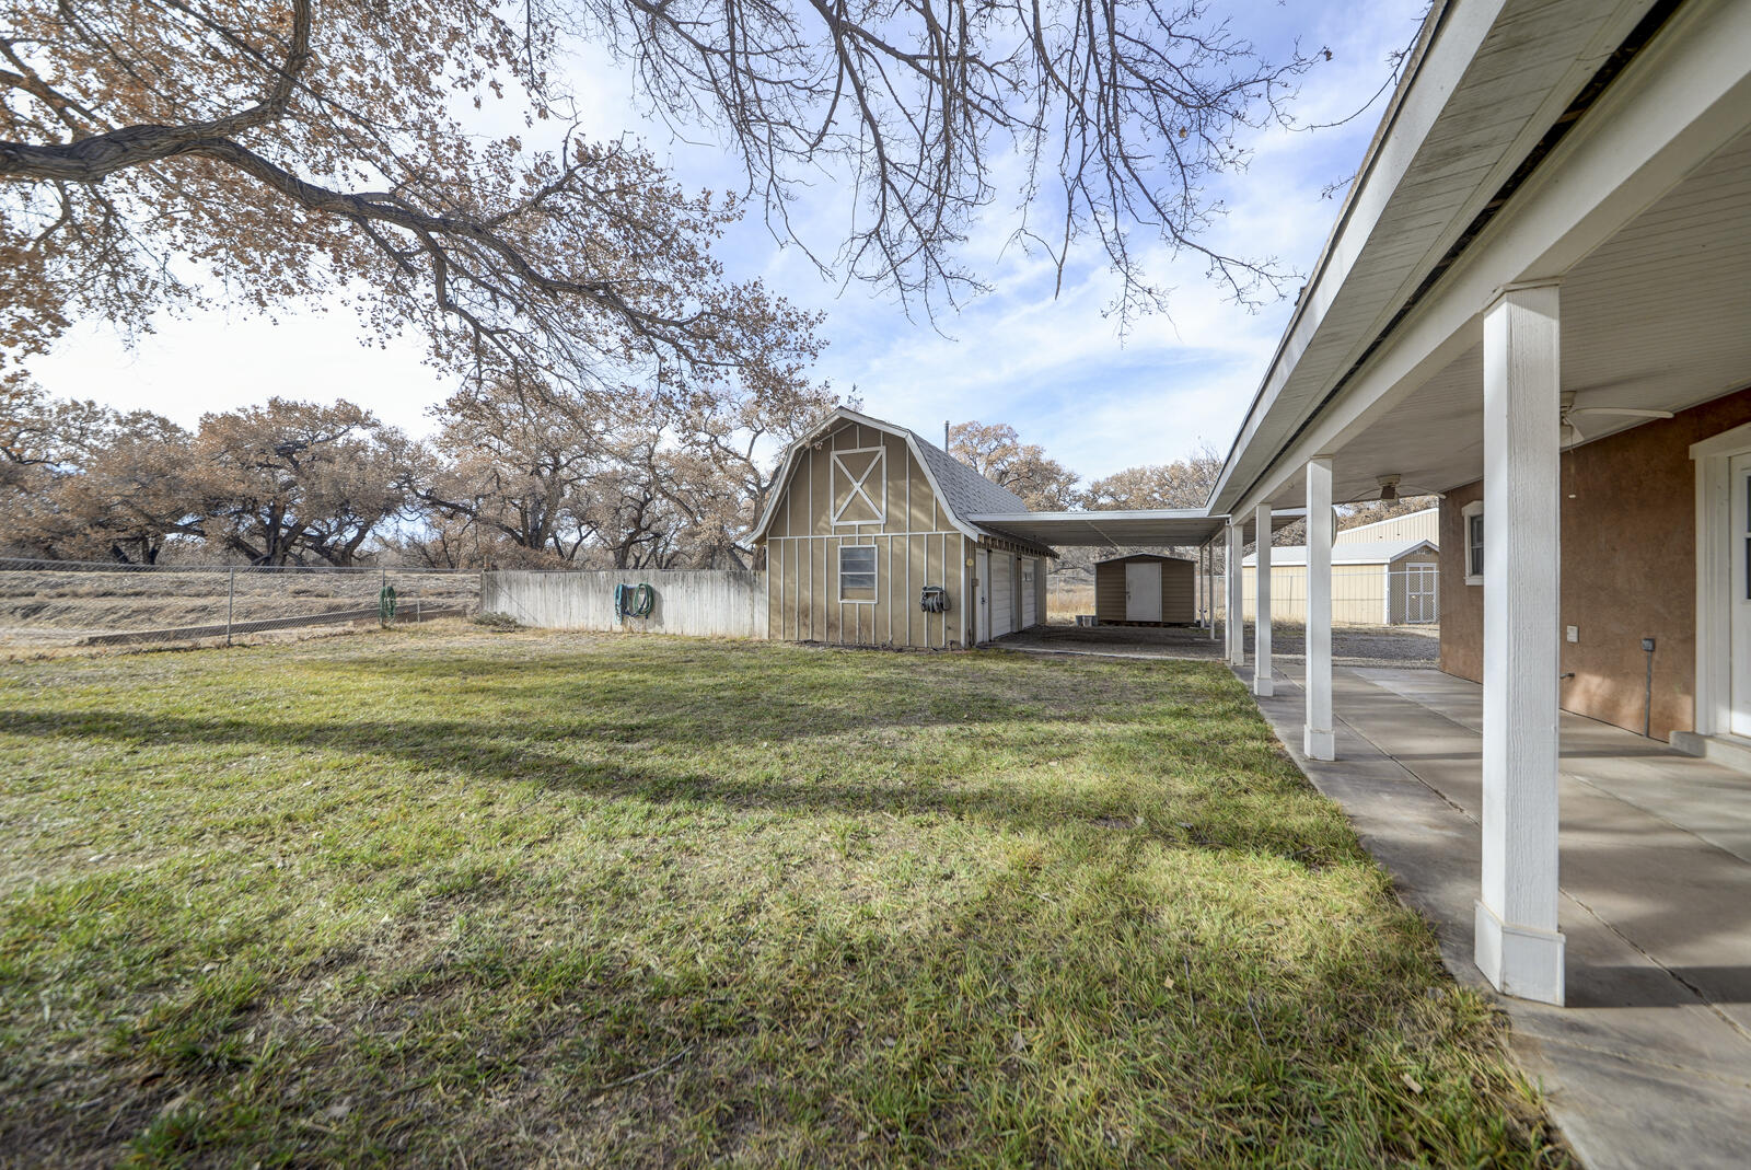
[[[231,645],[478,611],[478,573],[0,557],[7,648]]]

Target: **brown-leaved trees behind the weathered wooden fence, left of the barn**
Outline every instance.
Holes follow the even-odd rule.
[[[434,412],[410,490],[445,548],[471,531],[506,564],[739,566],[781,445],[833,405],[790,375],[699,378],[685,396],[499,380]]]

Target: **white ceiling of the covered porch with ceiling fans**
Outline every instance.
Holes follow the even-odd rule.
[[[1751,385],[1751,133],[1691,172],[1562,282],[1562,389],[1576,408],[1679,412]],[[1644,419],[1585,415],[1586,441]],[[1334,452],[1334,497],[1445,492],[1483,476],[1474,345]],[[1273,503],[1303,503],[1287,482]]]

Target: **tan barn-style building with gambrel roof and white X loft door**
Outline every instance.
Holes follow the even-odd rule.
[[[968,520],[1024,511],[916,433],[835,410],[784,454],[748,536],[767,553],[767,636],[953,648],[1044,622],[1052,548]]]

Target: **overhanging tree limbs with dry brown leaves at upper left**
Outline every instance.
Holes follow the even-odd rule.
[[[557,35],[489,0],[14,0],[0,347],[28,359],[75,317],[144,329],[221,282],[263,312],[345,294],[478,380],[783,364],[795,314],[709,254],[735,198],[545,133],[569,105]],[[473,133],[459,107],[499,95],[517,131]]]

